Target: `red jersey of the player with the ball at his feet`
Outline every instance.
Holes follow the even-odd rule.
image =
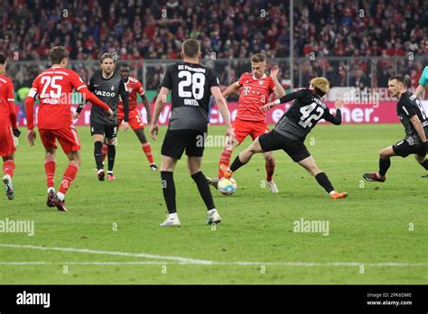
[[[265,121],[266,113],[260,110],[265,106],[274,91],[274,80],[264,75],[255,78],[252,73],[244,73],[237,81],[241,94],[237,103],[237,118],[249,121]]]

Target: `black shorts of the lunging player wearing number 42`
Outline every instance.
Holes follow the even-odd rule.
[[[260,135],[258,142],[264,152],[284,150],[293,159],[293,162],[300,162],[311,156],[303,142],[293,141],[274,130]]]

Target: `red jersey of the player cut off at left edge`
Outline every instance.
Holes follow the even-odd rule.
[[[0,130],[16,129],[14,110],[14,83],[10,78],[0,75]]]

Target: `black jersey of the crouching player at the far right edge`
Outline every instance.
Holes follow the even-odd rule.
[[[419,134],[414,129],[414,124],[410,121],[410,118],[417,115],[421,120],[423,130],[428,136],[428,119],[423,109],[421,100],[414,97],[410,92],[404,92],[398,102],[396,103],[396,115],[400,119],[401,123],[405,126],[405,137],[413,138],[414,143],[421,143]]]

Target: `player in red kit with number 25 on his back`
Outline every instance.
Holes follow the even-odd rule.
[[[113,116],[113,111],[90,93],[79,75],[71,69],[66,69],[69,62],[69,51],[65,47],[53,47],[49,53],[52,63],[51,69],[46,69],[33,81],[33,87],[25,101],[27,116],[27,138],[31,146],[34,145],[33,106],[36,97],[40,99],[37,121],[39,134],[45,149],[44,169],[48,183],[48,201],[50,208],[56,207],[60,211],[67,211],[65,194],[71,182],[76,178],[80,166],[80,143],[76,129],[71,120],[72,91],[76,89],[92,104],[107,111],[106,116]],[[60,142],[62,151],[69,158],[70,164],[64,172],[59,191],[55,194],[55,155],[56,140]]]

